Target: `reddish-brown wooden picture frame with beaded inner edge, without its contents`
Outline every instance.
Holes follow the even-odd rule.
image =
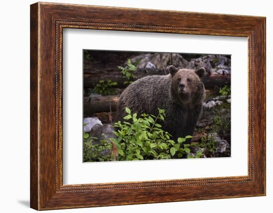
[[[31,5],[30,25],[31,208],[52,210],[266,195],[265,17],[38,2]],[[248,175],[63,185],[64,28],[247,37]]]

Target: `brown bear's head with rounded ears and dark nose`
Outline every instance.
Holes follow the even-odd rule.
[[[172,78],[171,94],[176,103],[196,105],[203,102],[205,87],[202,78],[205,68],[178,69],[171,65],[168,70]]]

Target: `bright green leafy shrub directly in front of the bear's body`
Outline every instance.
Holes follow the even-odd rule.
[[[173,159],[190,153],[190,144],[184,142],[192,136],[178,138],[177,142],[171,140],[171,135],[159,124],[165,120],[165,110],[158,109],[158,112],[157,116],[137,117],[126,108],[126,121],[115,123],[118,130],[113,133],[117,138],[110,139],[117,147],[119,161]]]

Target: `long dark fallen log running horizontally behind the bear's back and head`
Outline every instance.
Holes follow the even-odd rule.
[[[168,71],[165,69],[138,69],[137,72],[134,73],[136,75],[136,79],[151,76],[151,75],[167,75]],[[84,88],[94,88],[99,81],[110,79],[112,82],[117,82],[116,88],[126,88],[128,85],[124,84],[126,79],[121,75],[119,71],[113,71],[109,73],[102,74],[85,74],[84,75]],[[206,75],[203,77],[203,83],[205,88],[214,88],[215,86],[223,87],[225,85],[230,85],[231,78],[230,74],[212,74]]]

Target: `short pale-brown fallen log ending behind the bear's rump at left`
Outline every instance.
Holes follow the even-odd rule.
[[[118,102],[118,95],[84,97],[83,114],[84,116],[92,116],[98,112],[116,111]]]

